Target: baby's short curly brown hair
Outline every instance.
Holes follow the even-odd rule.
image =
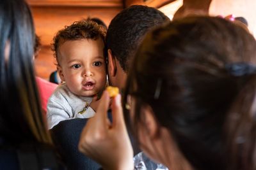
[[[90,19],[76,21],[69,26],[65,26],[53,38],[52,51],[54,52],[56,61],[58,62],[58,48],[65,41],[79,39],[96,40],[101,38],[104,45],[106,45],[106,32],[106,28]],[[104,50],[104,56],[106,56],[106,50]]]

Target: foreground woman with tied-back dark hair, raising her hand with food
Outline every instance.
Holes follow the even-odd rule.
[[[213,17],[176,20],[150,32],[124,95],[143,152],[169,169],[255,169],[256,43],[243,27]],[[108,92],[79,149],[104,169],[132,169],[120,96],[113,124]]]

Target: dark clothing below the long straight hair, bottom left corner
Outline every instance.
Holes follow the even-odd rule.
[[[0,169],[60,170],[65,169],[52,146],[41,143],[22,143],[17,146],[0,143]]]

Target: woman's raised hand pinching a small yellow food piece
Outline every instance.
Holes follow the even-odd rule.
[[[88,120],[81,133],[79,150],[104,169],[134,169],[120,94],[112,100],[112,124],[107,115],[109,102],[109,94],[104,91],[95,116]]]

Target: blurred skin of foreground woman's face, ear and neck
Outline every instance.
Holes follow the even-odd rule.
[[[131,97],[131,120],[134,120],[135,103],[136,99]],[[166,127],[157,124],[151,106],[148,104],[142,106],[140,114],[142,119],[138,123],[136,131],[138,131],[141,150],[150,159],[164,164],[168,169],[191,170],[189,162],[180,153],[173,140],[172,133]]]

